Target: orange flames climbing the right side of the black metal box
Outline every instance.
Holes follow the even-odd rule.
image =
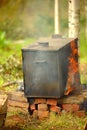
[[[68,95],[70,92],[72,92],[75,89],[75,86],[72,85],[77,80],[75,79],[75,73],[78,72],[78,62],[76,61],[76,56],[78,56],[78,50],[76,48],[76,44],[74,41],[70,43],[70,47],[72,53],[70,54],[70,57],[68,59],[69,60],[68,80],[66,85],[66,91],[64,93],[65,95]]]

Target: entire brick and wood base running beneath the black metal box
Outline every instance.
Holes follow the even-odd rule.
[[[51,112],[57,115],[62,112],[71,112],[79,117],[84,117],[87,113],[87,90],[60,99],[28,98],[27,101],[23,92],[14,92],[8,95],[8,110],[14,107],[27,113],[28,109],[30,115],[36,119],[47,118]]]

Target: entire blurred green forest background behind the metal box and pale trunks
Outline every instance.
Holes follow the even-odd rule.
[[[79,55],[82,65],[87,63],[84,1],[80,0]],[[59,10],[61,35],[68,37],[68,0],[60,0]],[[24,45],[52,34],[54,0],[0,0],[0,84],[22,78],[21,48]],[[18,40],[23,40],[25,44],[13,44],[13,41]],[[84,72],[87,73],[86,65],[81,67],[83,82],[87,82],[87,74],[84,77]]]

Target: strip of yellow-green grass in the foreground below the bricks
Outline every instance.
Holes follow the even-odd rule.
[[[79,118],[71,113],[55,115],[51,113],[45,120],[27,118],[27,125],[21,130],[84,130],[87,117]]]

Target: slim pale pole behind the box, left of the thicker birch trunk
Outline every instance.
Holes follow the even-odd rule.
[[[55,34],[60,34],[59,0],[54,2],[54,24]]]

